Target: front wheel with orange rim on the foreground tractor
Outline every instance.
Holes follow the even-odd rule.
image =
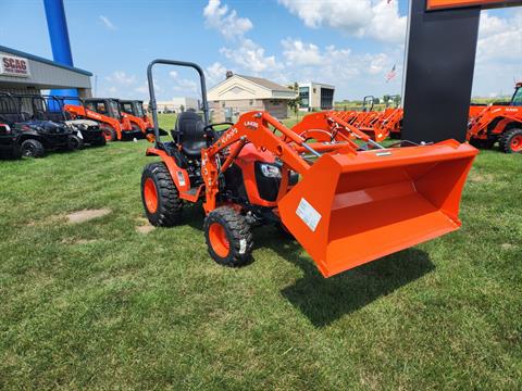
[[[250,262],[253,247],[250,225],[234,209],[222,206],[210,212],[203,229],[209,254],[216,263],[238,267]]]

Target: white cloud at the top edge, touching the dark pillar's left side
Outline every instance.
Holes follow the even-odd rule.
[[[386,0],[278,0],[311,28],[328,26],[356,37],[403,43],[406,16],[398,1]]]

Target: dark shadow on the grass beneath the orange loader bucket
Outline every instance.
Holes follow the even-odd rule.
[[[304,273],[281,293],[318,328],[326,327],[435,269],[426,252],[407,249],[324,278],[313,261],[302,255],[303,250],[296,241],[266,240],[263,244]]]

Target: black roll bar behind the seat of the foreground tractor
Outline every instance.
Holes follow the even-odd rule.
[[[156,64],[186,66],[186,67],[191,67],[196,70],[196,72],[199,74],[199,80],[201,84],[201,100],[203,102],[202,110],[203,110],[204,126],[210,125],[210,122],[209,122],[209,103],[207,102],[207,84],[204,81],[204,73],[201,66],[199,66],[196,63],[186,62],[186,61],[163,60],[163,59],[153,60],[147,66],[147,81],[149,84],[149,96],[150,96],[149,108],[152,111],[152,121],[154,123],[156,147],[158,147],[161,143],[160,127],[158,124],[158,106],[156,104],[154,79],[152,78],[152,66],[154,66]]]

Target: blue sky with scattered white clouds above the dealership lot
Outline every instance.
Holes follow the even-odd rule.
[[[407,0],[65,0],[65,12],[75,66],[97,75],[98,96],[147,98],[154,58],[201,64],[210,86],[232,70],[334,84],[336,99],[401,88]],[[2,0],[0,15],[0,45],[52,58],[42,0]],[[483,12],[473,93],[510,93],[520,53],[521,10]],[[169,71],[157,75],[160,99],[197,96],[194,74]]]

